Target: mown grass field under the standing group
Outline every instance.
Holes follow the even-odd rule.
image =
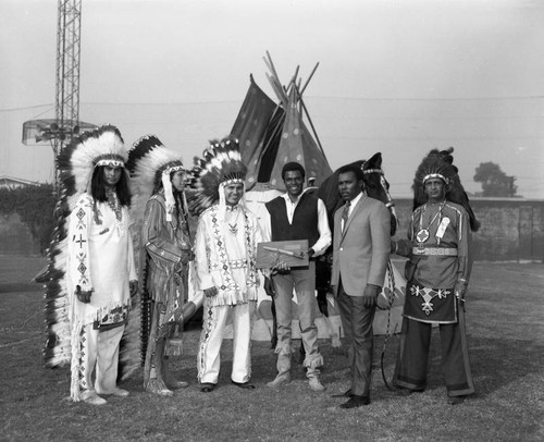
[[[185,333],[185,355],[171,365],[190,386],[161,398],[141,389],[141,371],[122,386],[126,398],[94,407],[72,403],[67,367],[46,369],[42,290],[28,280],[44,261],[0,256],[0,440],[2,441],[542,441],[544,440],[544,266],[474,265],[467,300],[468,340],[477,394],[461,405],[446,402],[440,342],[433,333],[428,390],[400,397],[390,392],[376,365],[372,403],[344,410],[347,358],[321,341],[324,393],[307,388],[298,366],[277,391],[269,343],[252,346],[255,391],[230,382],[231,341],[222,352],[219,389],[200,393],[196,381],[199,330]],[[398,339],[388,341],[392,376]],[[375,341],[375,359],[383,337]]]

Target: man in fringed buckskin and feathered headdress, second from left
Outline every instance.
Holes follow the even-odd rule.
[[[186,171],[180,156],[156,136],[143,137],[134,145],[127,168],[136,194],[136,217],[144,213],[139,256],[144,389],[171,396],[170,388],[188,386],[169,379],[166,359],[182,353],[180,320],[193,259],[184,193]]]

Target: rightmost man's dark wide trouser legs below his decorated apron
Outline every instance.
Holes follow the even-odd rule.
[[[449,396],[474,393],[465,329],[459,323],[440,324],[442,370]],[[422,391],[426,386],[426,367],[432,324],[403,319],[403,331],[393,384]]]

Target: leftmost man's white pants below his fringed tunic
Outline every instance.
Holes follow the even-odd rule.
[[[119,344],[123,337],[124,326],[100,331],[92,329],[92,324],[84,327],[85,336],[81,363],[84,367],[83,377],[79,380],[82,395],[89,393],[108,394],[116,386]],[[96,380],[92,384],[92,372],[96,366]]]

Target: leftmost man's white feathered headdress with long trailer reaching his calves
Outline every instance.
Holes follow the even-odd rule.
[[[112,125],[103,125],[72,139],[58,156],[59,200],[54,209],[57,224],[48,250],[46,282],[47,367],[70,364],[70,302],[66,288],[67,218],[79,196],[90,191],[92,172],[98,165],[123,167],[127,159],[123,138]]]

